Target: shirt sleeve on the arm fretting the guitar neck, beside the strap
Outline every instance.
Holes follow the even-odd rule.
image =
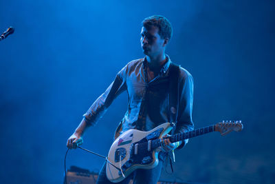
[[[179,112],[175,133],[194,130],[194,124],[192,122],[193,78],[192,75],[186,71],[179,80]],[[184,147],[186,143],[188,143],[188,139],[184,140],[178,148]]]

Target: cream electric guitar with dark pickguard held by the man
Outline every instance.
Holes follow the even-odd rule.
[[[127,130],[121,134],[109,150],[106,174],[109,181],[118,183],[131,172],[137,169],[151,169],[158,164],[158,153],[161,151],[161,138],[172,130],[170,123],[163,123],[148,132],[140,130]],[[233,130],[240,132],[243,129],[241,121],[222,122],[208,127],[202,127],[190,132],[175,134],[164,139],[170,139],[171,143],[190,139],[195,136],[220,132],[228,134]]]

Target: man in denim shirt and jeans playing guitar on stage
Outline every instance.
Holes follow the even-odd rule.
[[[115,131],[115,139],[129,129],[142,131],[152,130],[157,125],[169,122],[170,114],[177,111],[175,133],[193,129],[192,123],[192,76],[179,68],[179,108],[169,108],[168,86],[171,61],[165,54],[173,29],[168,19],[162,16],[147,17],[142,21],[140,43],[146,55],[144,59],[129,62],[115,77],[109,88],[91,105],[83,115],[84,119],[69,137],[67,147],[76,148],[83,143],[82,136],[87,127],[94,125],[106,112],[116,96],[127,91],[129,96],[128,110]],[[168,140],[168,139],[167,139]],[[170,143],[162,141],[162,152],[159,153],[159,164],[151,170],[135,170],[120,183],[157,183],[162,172],[162,163],[167,152],[183,147],[184,142]],[[105,173],[106,163],[100,171],[98,183],[111,183]]]

